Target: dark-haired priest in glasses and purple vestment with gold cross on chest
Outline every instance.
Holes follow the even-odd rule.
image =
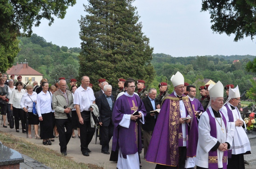
[[[116,100],[112,113],[114,123],[112,150],[119,150],[118,169],[139,169],[139,151],[142,150],[140,123],[144,124],[146,110],[140,97],[133,94],[134,81],[127,80],[124,87],[126,93]],[[135,111],[138,115],[133,115]]]

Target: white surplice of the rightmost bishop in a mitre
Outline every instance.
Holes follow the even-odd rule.
[[[227,105],[228,105],[228,108],[231,110],[229,102],[227,103]],[[232,154],[242,154],[242,153],[245,153],[246,151],[251,151],[251,146],[250,146],[249,139],[245,133],[246,124],[242,119],[241,114],[238,111],[238,108],[237,107],[235,108],[236,109],[231,110],[233,119],[234,121],[236,121],[237,119],[242,120],[245,128],[235,126],[235,122],[228,122],[230,125],[230,131],[231,131],[230,135],[233,137],[232,147],[230,147],[230,149],[232,148]],[[227,121],[229,121],[227,108],[225,106],[221,108],[221,112],[224,114]]]

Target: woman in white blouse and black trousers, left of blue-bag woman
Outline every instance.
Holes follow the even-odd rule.
[[[24,89],[22,89],[22,82],[18,81],[16,83],[16,88],[12,92],[12,96],[10,99],[11,110],[13,110],[14,115],[14,123],[16,132],[19,132],[19,119],[22,122],[22,132],[26,133],[26,113],[20,107],[20,100],[22,96],[26,93]]]

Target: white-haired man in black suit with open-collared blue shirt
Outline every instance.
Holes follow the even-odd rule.
[[[104,94],[96,99],[96,105],[99,108],[99,125],[101,133],[101,152],[103,154],[110,154],[109,142],[113,136],[114,125],[112,122],[112,111],[114,107],[114,97],[111,95],[112,86],[104,85]]]

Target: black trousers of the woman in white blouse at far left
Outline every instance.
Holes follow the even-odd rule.
[[[26,130],[26,112],[13,107],[15,129],[19,129],[19,119],[22,122],[22,130]]]

